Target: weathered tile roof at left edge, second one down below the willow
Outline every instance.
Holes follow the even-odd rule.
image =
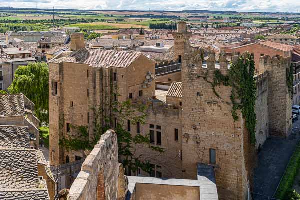
[[[0,148],[30,148],[28,126],[0,125]]]

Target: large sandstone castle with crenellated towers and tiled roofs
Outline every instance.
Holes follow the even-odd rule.
[[[147,104],[148,109],[146,123],[131,125],[128,121],[128,131],[132,135],[150,133],[151,145],[165,150],[159,154],[142,146],[137,148],[137,153],[146,155],[145,159],[153,164],[153,176],[196,179],[200,163],[214,168],[219,199],[248,199],[256,150],[269,135],[287,137],[291,130],[286,74],[290,57],[260,57],[255,76],[256,144],[252,145],[241,113],[237,121],[232,118],[232,88],[217,86],[218,97],[208,82],[213,80],[215,70],[227,74],[225,55],[216,62],[211,51],[203,60],[203,49],[190,46],[191,33],[184,22],[179,22],[173,36],[174,56],[181,63],[181,82],[172,83],[164,102],[155,98],[154,61],[138,52],[87,49],[83,35],[72,34],[73,52],[61,54],[49,64],[50,164],[87,156],[81,151],[66,151],[59,139],[76,136],[71,125],[88,126],[92,138],[92,107],[113,115],[110,105],[114,101],[131,99]],[[237,58],[235,55],[233,62]],[[126,169],[126,173],[131,171]],[[131,175],[149,176],[143,171]]]

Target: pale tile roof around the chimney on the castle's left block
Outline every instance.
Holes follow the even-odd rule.
[[[63,56],[51,60],[52,63],[71,62],[89,64],[93,67],[120,67],[126,68],[139,56],[144,56],[141,52],[114,51],[82,48],[70,56]]]

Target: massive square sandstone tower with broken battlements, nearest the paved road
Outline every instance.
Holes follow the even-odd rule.
[[[210,82],[218,70],[214,52],[209,52],[205,68],[203,53],[204,49],[200,49],[184,54],[182,61],[183,178],[195,178],[198,163],[207,164],[214,167],[219,199],[248,199],[249,135],[241,113],[237,121],[231,115],[231,87],[220,85],[215,91],[212,88]],[[217,68],[226,75],[225,55],[219,61]]]

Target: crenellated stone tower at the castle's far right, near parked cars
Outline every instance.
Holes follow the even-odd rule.
[[[260,57],[260,67],[269,72],[268,104],[270,135],[287,137],[292,126],[292,100],[287,87],[290,57]],[[293,92],[293,91],[292,91]]]

